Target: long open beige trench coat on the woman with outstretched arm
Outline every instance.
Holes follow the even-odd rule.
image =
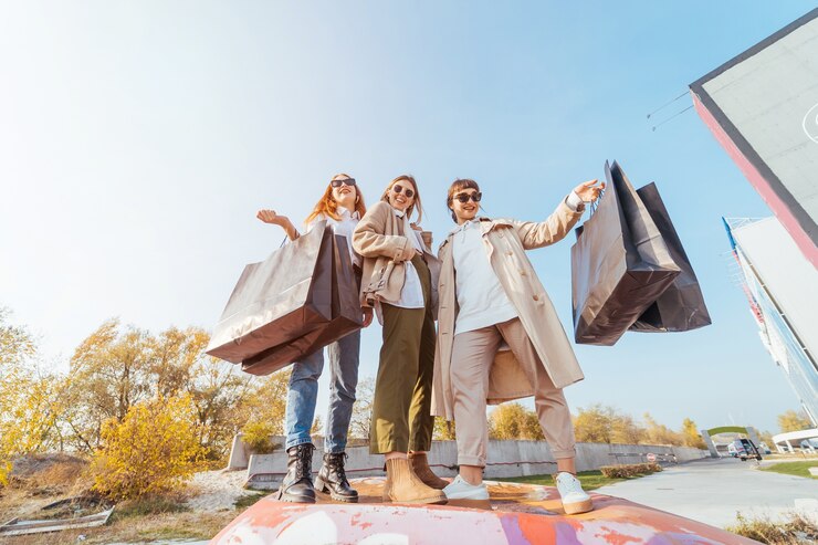
[[[542,365],[557,388],[579,381],[584,376],[554,305],[525,251],[562,240],[581,216],[581,211],[574,212],[563,201],[542,223],[480,218],[480,230],[492,269],[516,307]],[[440,308],[432,389],[432,415],[447,420],[453,419],[450,369],[458,312],[450,241],[451,234],[438,252],[441,261],[438,284]],[[533,395],[534,389],[514,355],[510,350],[497,353],[490,371],[486,401],[496,405]]]

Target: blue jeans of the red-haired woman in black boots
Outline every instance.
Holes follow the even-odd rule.
[[[358,385],[360,329],[327,346],[329,356],[329,407],[324,431],[324,450],[344,452],[349,420],[353,417],[355,388]],[[324,369],[324,350],[293,364],[287,390],[286,448],[313,442],[310,428],[318,398],[318,377]]]

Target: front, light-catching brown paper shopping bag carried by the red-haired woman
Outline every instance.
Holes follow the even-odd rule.
[[[239,364],[332,319],[333,231],[316,223],[244,268],[206,353]]]

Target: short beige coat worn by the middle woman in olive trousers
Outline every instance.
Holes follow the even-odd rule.
[[[440,263],[431,253],[432,233],[422,231],[423,259],[432,280],[431,304],[438,307]],[[406,282],[406,261],[415,256],[415,245],[403,234],[403,220],[385,201],[366,211],[353,232],[353,248],[364,258],[360,282],[360,304],[374,306],[375,301],[397,301]]]

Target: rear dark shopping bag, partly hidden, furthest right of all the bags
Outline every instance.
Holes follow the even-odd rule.
[[[668,209],[653,182],[637,189],[650,217],[662,233],[673,261],[681,272],[659,298],[630,326],[632,332],[688,332],[710,325],[710,313],[704,295],[693,272],[688,254],[682,248]]]

